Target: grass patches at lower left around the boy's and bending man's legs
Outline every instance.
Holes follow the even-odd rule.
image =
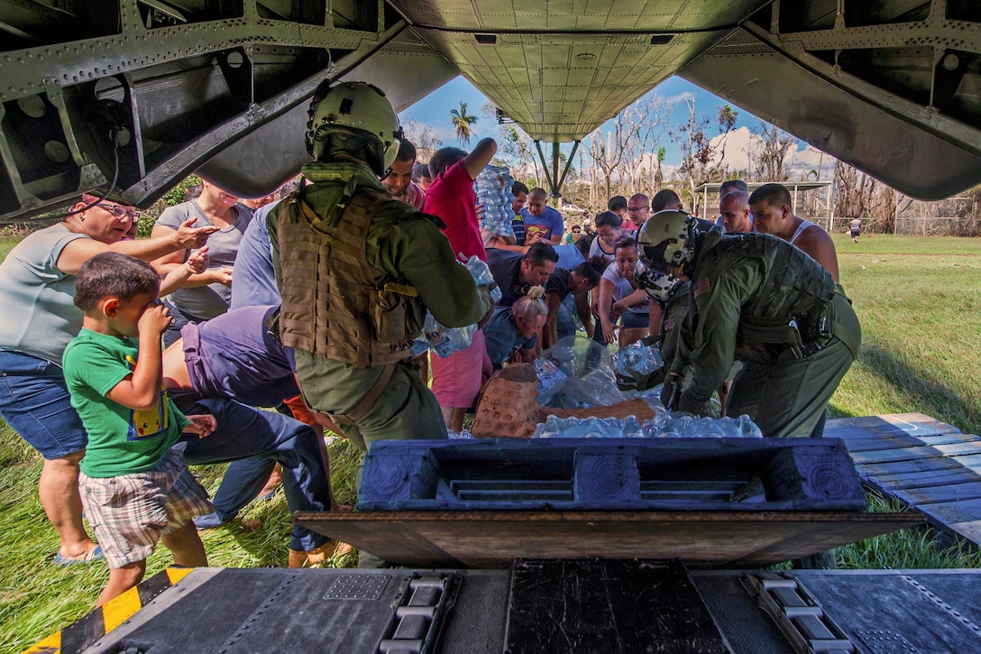
[[[328,451],[335,475],[334,490],[341,504],[354,504],[355,471],[360,452],[347,441],[332,442]],[[214,492],[226,465],[193,468],[201,483]],[[109,571],[105,563],[59,568],[52,561],[58,538],[37,500],[39,457],[6,424],[0,422],[0,652],[17,652],[55,629],[88,613]],[[246,531],[244,518],[259,518],[263,527]],[[256,501],[228,525],[201,532],[208,563],[222,568],[285,568],[289,541],[289,512],[282,489],[270,502]],[[171,564],[163,545],[147,562],[147,577]],[[335,568],[353,568],[356,554],[332,561]]]

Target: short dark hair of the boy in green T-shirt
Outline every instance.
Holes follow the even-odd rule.
[[[101,252],[81,264],[75,278],[75,305],[88,311],[103,298],[129,300],[141,293],[156,295],[160,276],[146,261],[128,254]]]

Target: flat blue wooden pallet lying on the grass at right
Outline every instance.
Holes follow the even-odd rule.
[[[981,438],[923,413],[836,418],[824,435],[845,442],[865,484],[981,546]]]

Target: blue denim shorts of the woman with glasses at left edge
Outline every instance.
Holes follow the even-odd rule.
[[[45,459],[61,459],[88,444],[57,363],[0,351],[0,416]]]

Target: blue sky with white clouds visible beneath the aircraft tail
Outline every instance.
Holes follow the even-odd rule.
[[[697,112],[709,118],[709,130],[714,134],[716,129],[715,116],[719,107],[725,104],[721,99],[679,77],[672,77],[661,82],[655,90],[667,98],[674,107],[672,125],[682,124],[688,120],[688,109],[685,106],[684,100],[686,96],[694,96]],[[456,136],[449,121],[449,110],[455,109],[461,100],[467,103],[467,111],[469,113],[479,117],[477,125],[474,126],[474,136],[477,139],[484,136],[492,136],[490,131],[493,126],[488,124],[488,119],[481,112],[481,107],[485,102],[488,102],[488,98],[463,77],[457,77],[450,82],[446,82],[422,100],[405,109],[400,116],[403,123],[410,118],[414,118],[417,123],[429,125],[433,128],[436,136],[442,139],[444,145],[457,145]],[[730,161],[730,159],[736,159],[738,157],[740,161],[731,161],[730,163],[735,167],[745,168],[747,165],[746,154],[740,155],[738,153],[741,151],[740,148],[743,147],[742,143],[749,143],[751,135],[759,132],[759,120],[748,111],[739,107],[733,108],[738,112],[735,129],[740,132],[730,136],[730,146],[727,147],[726,159]],[[600,130],[602,129],[600,128]],[[476,140],[472,140],[471,142],[476,142]],[[667,138],[665,138],[662,144],[666,148],[665,163],[669,166],[678,164],[680,159],[678,147]],[[566,144],[563,146],[563,150],[568,152],[570,147],[570,144]],[[798,158],[802,160],[800,165],[816,166],[816,150],[807,147],[803,141],[800,141],[798,149]],[[733,150],[731,156],[730,150]],[[814,161],[811,161],[812,159]]]

